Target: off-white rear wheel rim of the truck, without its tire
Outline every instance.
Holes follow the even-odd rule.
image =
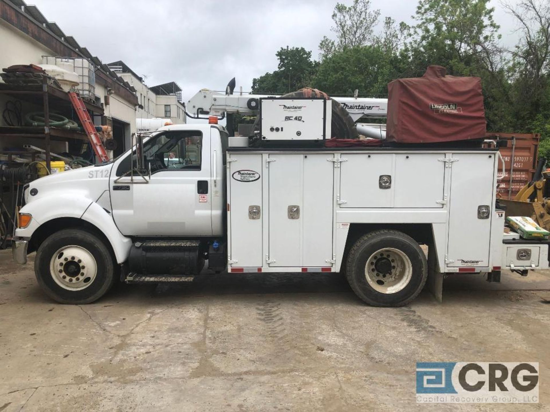
[[[375,291],[397,293],[409,284],[412,264],[409,257],[399,249],[379,249],[367,259],[365,277]]]

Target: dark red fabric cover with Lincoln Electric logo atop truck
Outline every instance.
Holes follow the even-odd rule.
[[[479,77],[446,76],[430,66],[422,77],[388,84],[386,139],[434,143],[485,137],[485,110]]]

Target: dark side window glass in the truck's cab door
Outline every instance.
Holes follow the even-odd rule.
[[[171,131],[156,135],[144,144],[144,164],[151,173],[162,170],[201,170],[202,133],[199,131]],[[131,155],[137,164],[136,153]],[[129,171],[130,155],[120,162],[117,176]]]

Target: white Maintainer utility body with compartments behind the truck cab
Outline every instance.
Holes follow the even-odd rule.
[[[513,252],[533,244],[503,244],[497,169],[496,151],[487,149],[231,148],[230,271],[340,271],[350,227],[384,224],[429,225],[440,272],[545,269],[547,244],[538,242],[527,262]],[[256,179],[239,179],[241,170]],[[389,187],[380,187],[382,176]],[[251,205],[260,209],[256,219]],[[489,206],[489,218],[478,219],[480,205]],[[291,207],[298,218],[289,218]]]

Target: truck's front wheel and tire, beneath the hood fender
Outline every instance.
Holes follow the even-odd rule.
[[[114,283],[113,256],[92,233],[65,229],[53,233],[38,248],[35,275],[43,291],[59,303],[91,303]]]

